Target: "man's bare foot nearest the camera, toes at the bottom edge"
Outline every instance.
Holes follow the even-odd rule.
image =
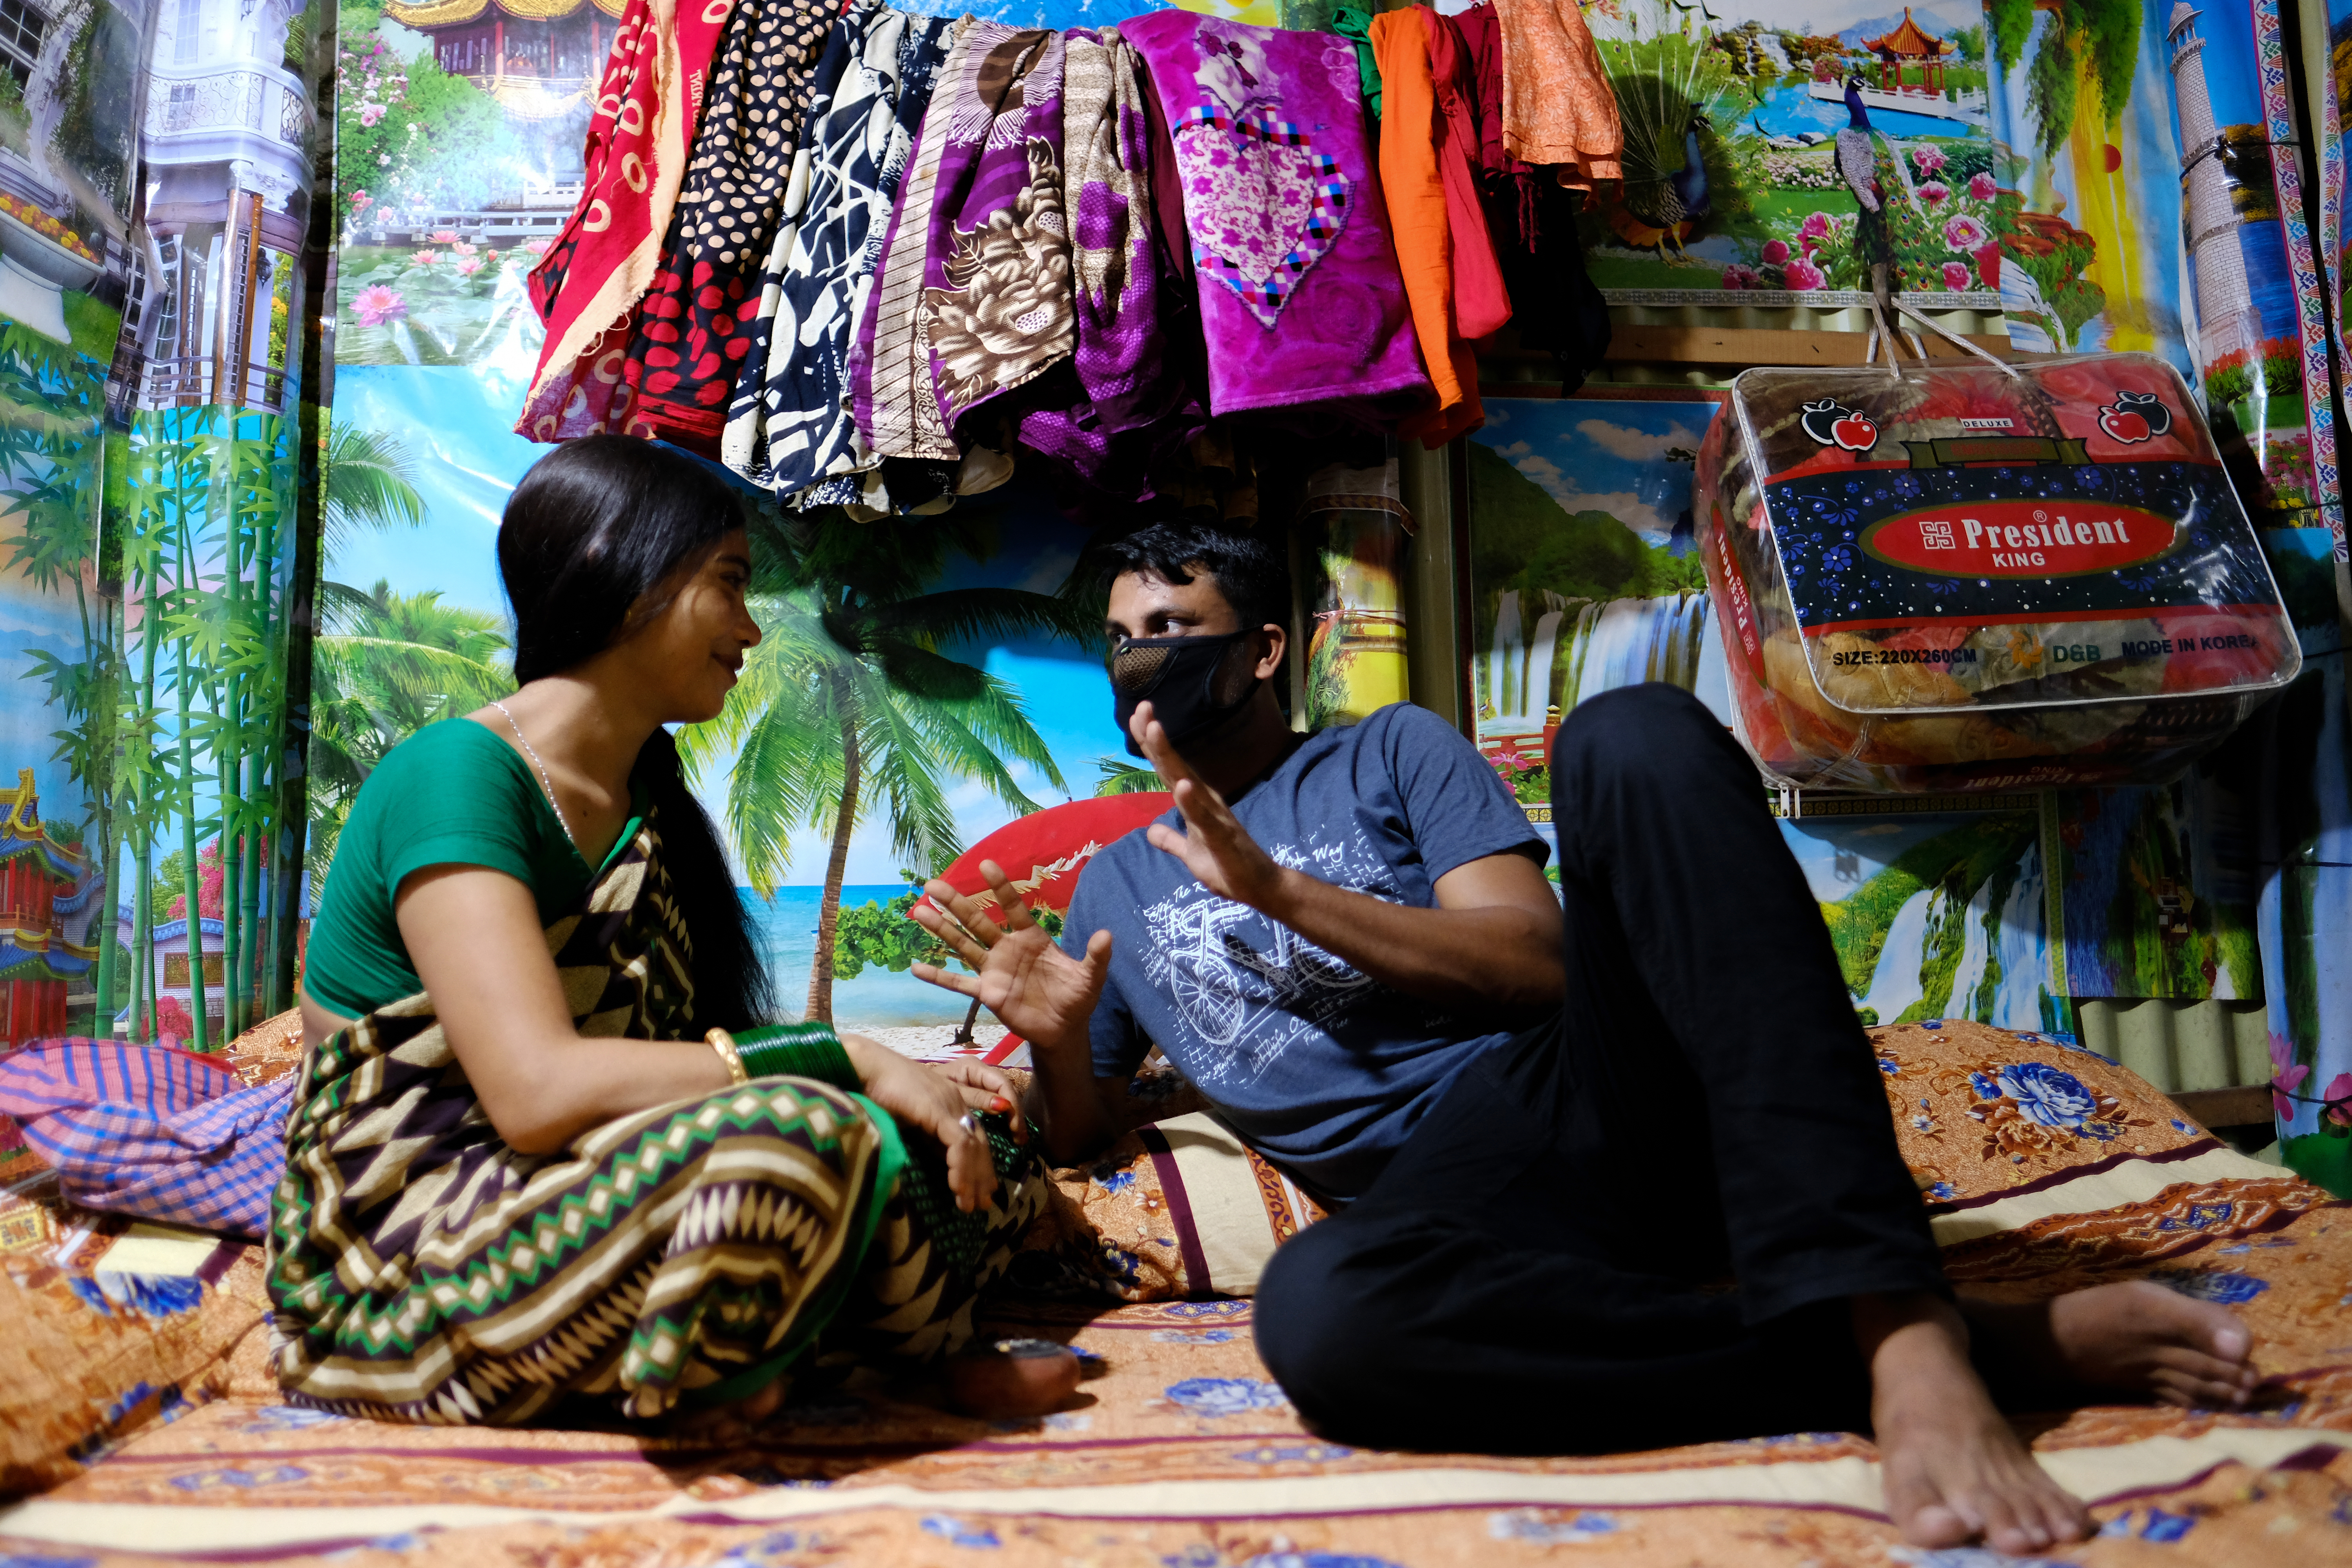
[[[2051,1481],[1969,1366],[1959,1312],[1926,1293],[1853,1298],[1870,1363],[1886,1516],[1915,1547],[1983,1540],[2027,1556],[2082,1540],[2082,1502]]]

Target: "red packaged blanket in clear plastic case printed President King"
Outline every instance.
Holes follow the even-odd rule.
[[[1750,369],[1696,491],[1736,731],[1783,785],[2157,783],[2303,663],[2150,355]]]

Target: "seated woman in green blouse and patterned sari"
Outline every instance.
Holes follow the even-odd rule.
[[[1011,1084],[771,1006],[666,724],[760,642],[734,491],[628,437],[499,529],[520,689],[367,778],[303,973],[270,1225],[287,1394],[515,1425],[760,1418],[922,1363],[1042,1204]]]

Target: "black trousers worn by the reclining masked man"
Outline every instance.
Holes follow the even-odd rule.
[[[1851,1429],[1846,1298],[1947,1293],[1820,907],[1675,686],[1552,745],[1566,1006],[1275,1253],[1258,1352],[1331,1439],[1599,1453]]]

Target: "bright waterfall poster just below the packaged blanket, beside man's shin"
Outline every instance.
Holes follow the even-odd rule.
[[[1853,802],[1860,806],[1860,802]],[[1936,802],[1922,802],[1933,806]],[[2067,1032],[2051,992],[2039,813],[1818,816],[1780,823],[1865,1025],[1973,1018]]]

